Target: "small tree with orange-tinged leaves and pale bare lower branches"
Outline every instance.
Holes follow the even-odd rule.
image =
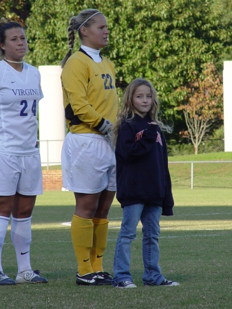
[[[188,128],[188,134],[198,155],[198,146],[204,135],[218,119],[223,119],[222,78],[213,63],[204,66],[202,76],[183,89],[186,104],[180,106]]]

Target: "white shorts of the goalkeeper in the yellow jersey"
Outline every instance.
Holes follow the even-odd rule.
[[[103,135],[67,133],[61,166],[65,189],[87,194],[116,191],[114,149]]]

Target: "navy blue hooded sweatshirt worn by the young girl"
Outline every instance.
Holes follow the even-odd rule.
[[[116,141],[117,199],[122,207],[143,203],[159,205],[163,216],[173,216],[173,196],[168,169],[167,144],[151,118],[135,114],[125,119]]]

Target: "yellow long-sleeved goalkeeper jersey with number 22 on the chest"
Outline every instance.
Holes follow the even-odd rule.
[[[80,50],[61,73],[65,118],[71,133],[98,133],[104,119],[112,124],[118,112],[114,65],[101,56],[95,62]]]

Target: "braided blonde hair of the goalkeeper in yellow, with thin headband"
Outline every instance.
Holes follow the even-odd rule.
[[[80,40],[82,40],[81,27],[82,25],[84,25],[85,27],[88,28],[92,25],[92,23],[96,23],[96,20],[94,19],[95,14],[102,14],[102,13],[96,9],[87,9],[81,11],[77,16],[73,16],[70,19],[70,25],[67,28],[68,45],[70,47],[70,50],[65,55],[65,58],[63,58],[63,60],[61,61],[62,68],[64,67],[67,59],[70,58],[70,56],[72,55],[72,49],[74,47],[74,41],[75,41],[75,31],[78,31],[78,36]]]

